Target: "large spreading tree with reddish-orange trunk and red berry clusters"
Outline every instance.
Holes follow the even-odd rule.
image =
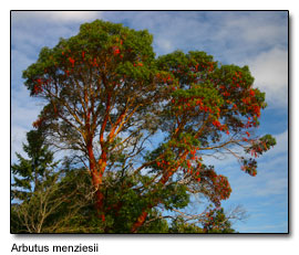
[[[266,103],[247,66],[198,51],[155,57],[152,41],[96,20],[23,72],[44,102],[33,126],[89,169],[99,219],[130,219],[106,231],[138,232],[159,208],[181,215],[195,194],[220,206],[231,189],[205,157],[231,155],[255,176],[255,158],[276,144],[254,134]]]

